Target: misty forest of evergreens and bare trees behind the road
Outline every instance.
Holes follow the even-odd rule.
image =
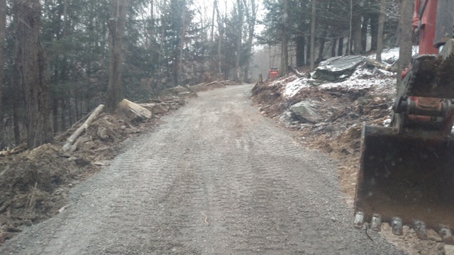
[[[381,52],[411,2],[0,0],[0,145],[52,142],[99,103]]]

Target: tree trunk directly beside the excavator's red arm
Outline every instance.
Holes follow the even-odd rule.
[[[401,14],[399,20],[399,60],[397,61],[397,84],[400,84],[400,73],[408,67],[411,61],[411,46],[413,43],[413,30],[411,18],[413,17],[413,0],[401,0]]]

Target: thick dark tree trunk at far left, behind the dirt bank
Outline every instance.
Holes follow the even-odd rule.
[[[26,103],[27,145],[52,142],[49,65],[40,44],[39,0],[15,1],[16,67]]]

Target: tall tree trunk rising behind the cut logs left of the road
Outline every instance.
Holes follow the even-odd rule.
[[[121,71],[123,35],[126,26],[128,0],[111,0],[109,19],[109,85],[107,87],[106,111],[111,113],[121,101]]]

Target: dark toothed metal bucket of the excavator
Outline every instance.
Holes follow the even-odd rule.
[[[426,132],[364,125],[355,227],[370,222],[380,231],[389,222],[402,234],[402,225],[409,225],[421,239],[431,228],[453,243],[454,139]]]

